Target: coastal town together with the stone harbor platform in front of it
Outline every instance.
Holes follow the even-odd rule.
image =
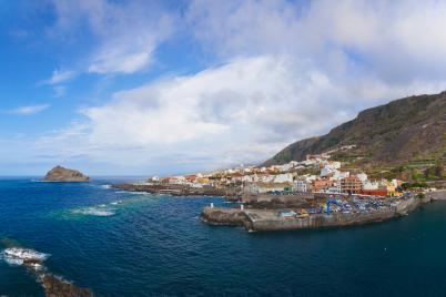
[[[241,165],[207,174],[152,176],[115,187],[178,196],[224,196],[232,204],[210,204],[202,211],[202,221],[241,225],[250,231],[379,222],[407,214],[429,201],[424,192],[434,191],[406,191],[404,181],[373,180],[348,165],[323,153],[283,165]]]

